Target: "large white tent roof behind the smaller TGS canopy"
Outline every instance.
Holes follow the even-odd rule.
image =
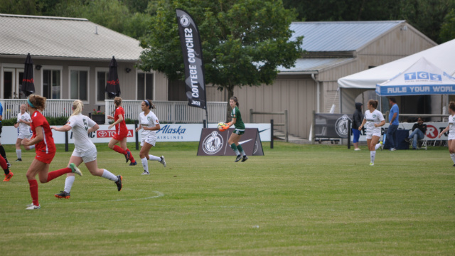
[[[434,46],[419,53],[414,53],[405,58],[370,68],[353,75],[338,79],[338,87],[341,88],[340,102],[341,112],[354,111],[355,97],[365,90],[375,90],[376,85],[393,78],[397,73],[409,68],[420,58],[426,58],[429,62],[441,68],[445,73],[455,75],[455,39],[439,46]]]

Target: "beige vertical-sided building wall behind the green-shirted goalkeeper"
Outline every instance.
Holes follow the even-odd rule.
[[[225,91],[216,87],[207,89],[208,101],[226,101]],[[273,85],[235,87],[244,122],[250,122],[250,109],[255,112],[284,112],[288,110],[289,133],[308,138],[313,110],[316,109],[316,83],[308,75],[300,78],[278,76]],[[255,114],[255,123],[284,123],[284,115]],[[225,120],[225,117],[220,117]],[[275,127],[284,131],[284,127]]]

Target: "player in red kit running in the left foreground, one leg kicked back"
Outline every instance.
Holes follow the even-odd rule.
[[[35,145],[36,156],[33,159],[27,171],[28,184],[30,185],[30,194],[32,203],[27,206],[27,210],[36,210],[41,208],[38,202],[38,181],[36,174],[41,183],[52,181],[54,178],[73,172],[82,176],[82,173],[75,164],[71,163],[69,167],[49,172],[49,164],[55,156],[55,144],[52,137],[48,120],[45,119],[41,111],[45,109],[45,97],[30,95],[27,99],[28,112],[31,113],[31,139],[22,139],[25,146]],[[38,111],[39,110],[39,111]]]

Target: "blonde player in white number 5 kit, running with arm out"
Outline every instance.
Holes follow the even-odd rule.
[[[63,127],[50,127],[58,132],[68,132],[73,130],[74,146],[75,149],[70,157],[70,163],[79,166],[82,162],[85,163],[90,174],[100,176],[114,181],[117,185],[117,190],[122,190],[122,176],[115,176],[106,169],[99,169],[97,164],[97,147],[88,137],[90,132],[95,132],[100,127],[95,121],[83,115],[82,108],[84,103],[80,100],[73,102],[73,114],[68,119],[68,122]],[[70,191],[73,187],[75,176],[73,173],[67,174],[65,179],[65,188],[60,193],[55,194],[56,198],[70,198]]]

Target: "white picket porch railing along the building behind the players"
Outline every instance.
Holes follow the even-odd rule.
[[[45,117],[69,117],[73,111],[74,100],[46,100],[46,107],[43,112]],[[16,118],[20,111],[21,104],[27,102],[26,99],[0,100],[3,105],[3,118]],[[122,100],[122,107],[125,110],[125,118],[137,120],[141,110],[142,100]],[[205,117],[205,110],[198,107],[188,106],[188,102],[176,101],[154,101],[156,109],[153,110],[160,122],[166,123],[202,123]],[[227,102],[207,102],[208,122],[218,123],[225,119],[227,112]],[[108,124],[107,115],[112,115],[114,111],[114,100],[105,100],[105,123]],[[91,112],[91,111],[90,111]]]

